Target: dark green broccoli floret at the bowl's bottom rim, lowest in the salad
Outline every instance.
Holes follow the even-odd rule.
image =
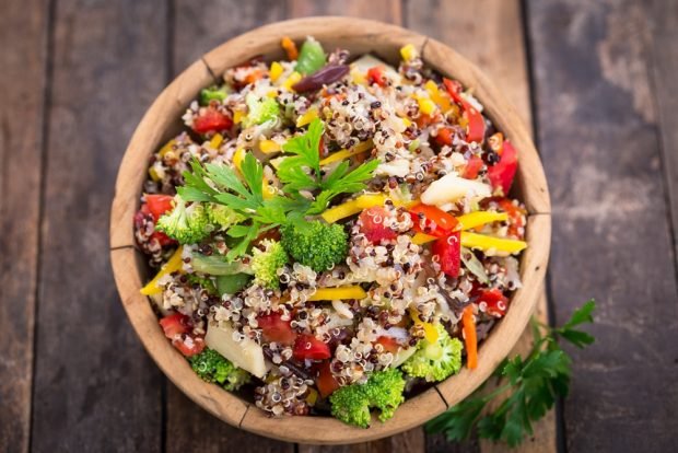
[[[332,416],[344,423],[361,428],[370,426],[370,409],[381,410],[379,420],[386,421],[405,400],[405,379],[398,369],[373,373],[366,383],[347,385],[329,397]]]

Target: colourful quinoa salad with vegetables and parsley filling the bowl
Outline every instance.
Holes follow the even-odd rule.
[[[301,44],[297,49],[297,44]],[[201,91],[135,234],[167,339],[271,416],[366,428],[478,364],[521,287],[517,150],[425,67],[283,38]]]

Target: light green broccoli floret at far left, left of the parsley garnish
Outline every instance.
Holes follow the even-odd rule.
[[[176,195],[174,209],[157,219],[155,230],[162,231],[182,244],[195,244],[207,237],[213,226],[202,204],[194,202],[188,206],[179,195]]]

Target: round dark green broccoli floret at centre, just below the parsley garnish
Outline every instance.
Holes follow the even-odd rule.
[[[316,272],[343,262],[348,253],[349,237],[340,224],[291,222],[281,230],[288,254]]]

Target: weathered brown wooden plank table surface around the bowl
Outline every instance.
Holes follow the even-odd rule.
[[[552,197],[551,318],[591,297],[599,307],[596,345],[572,351],[570,398],[523,450],[678,451],[674,0],[3,0],[0,451],[503,450],[421,429],[334,448],[246,433],[167,382],[126,320],[108,212],[144,109],[229,37],[318,14],[452,45],[534,128]]]

